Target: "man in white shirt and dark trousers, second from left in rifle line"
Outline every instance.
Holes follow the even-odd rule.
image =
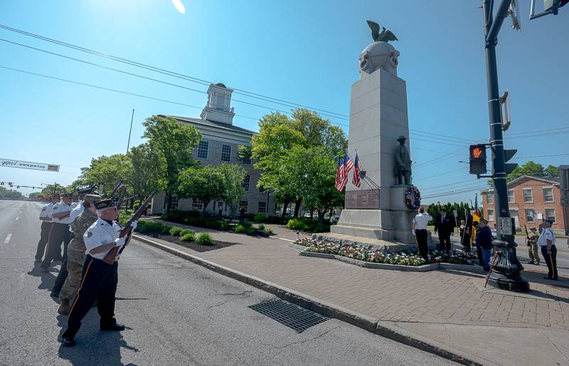
[[[71,193],[63,193],[59,203],[53,205],[51,230],[49,232],[48,249],[46,258],[41,262],[43,272],[48,272],[51,261],[57,259],[61,253],[61,243],[63,242],[63,260],[67,258],[67,246],[70,241],[69,224],[71,223],[71,211],[75,208],[73,203],[73,195]],[[62,267],[62,269],[64,269]],[[66,270],[66,269],[65,269]]]

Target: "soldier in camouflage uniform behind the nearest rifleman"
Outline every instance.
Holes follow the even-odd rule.
[[[58,313],[68,315],[71,299],[77,294],[77,290],[81,284],[81,271],[85,263],[85,242],[83,242],[83,234],[97,221],[97,210],[95,209],[94,202],[100,201],[100,195],[85,195],[83,206],[85,210],[71,223],[71,229],[75,234],[67,249],[67,270],[68,276],[65,279],[65,284],[59,293],[61,304],[58,308]]]

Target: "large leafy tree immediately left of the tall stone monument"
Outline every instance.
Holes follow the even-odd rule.
[[[304,163],[312,158],[310,154],[320,154],[321,165],[334,166],[335,172],[335,161],[346,150],[346,134],[332,126],[328,119],[307,109],[294,109],[291,117],[267,114],[260,120],[259,128],[259,134],[252,138],[252,158],[255,158],[255,168],[261,171],[257,186],[272,190],[285,203],[282,215],[294,200],[294,216],[297,216],[301,201],[308,198],[304,195],[314,192],[310,185],[323,187],[323,182],[315,182],[314,178],[307,178],[307,173],[302,173],[308,168]],[[327,174],[316,176],[326,176],[326,184],[334,186],[334,179],[329,181]],[[310,197],[310,203],[304,201],[305,204],[314,205],[314,197]]]

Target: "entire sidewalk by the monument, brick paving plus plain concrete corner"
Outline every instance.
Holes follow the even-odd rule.
[[[281,239],[194,229],[241,245],[199,253],[147,239],[331,307],[348,309],[375,320],[378,327],[385,325],[467,360],[484,365],[569,365],[568,279],[560,278],[558,286],[552,286],[539,279],[541,274],[523,272],[532,291],[516,294],[484,289],[484,277],[479,274],[366,269],[301,257],[299,249]]]

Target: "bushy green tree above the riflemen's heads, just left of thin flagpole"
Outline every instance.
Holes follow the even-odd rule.
[[[127,188],[127,193],[132,193],[132,185],[129,178],[132,176],[132,163],[125,154],[115,154],[111,156],[100,156],[91,160],[90,166],[81,168],[80,182],[83,185],[94,185],[99,187],[102,184],[100,195],[110,195],[115,188],[117,181],[122,180]]]

